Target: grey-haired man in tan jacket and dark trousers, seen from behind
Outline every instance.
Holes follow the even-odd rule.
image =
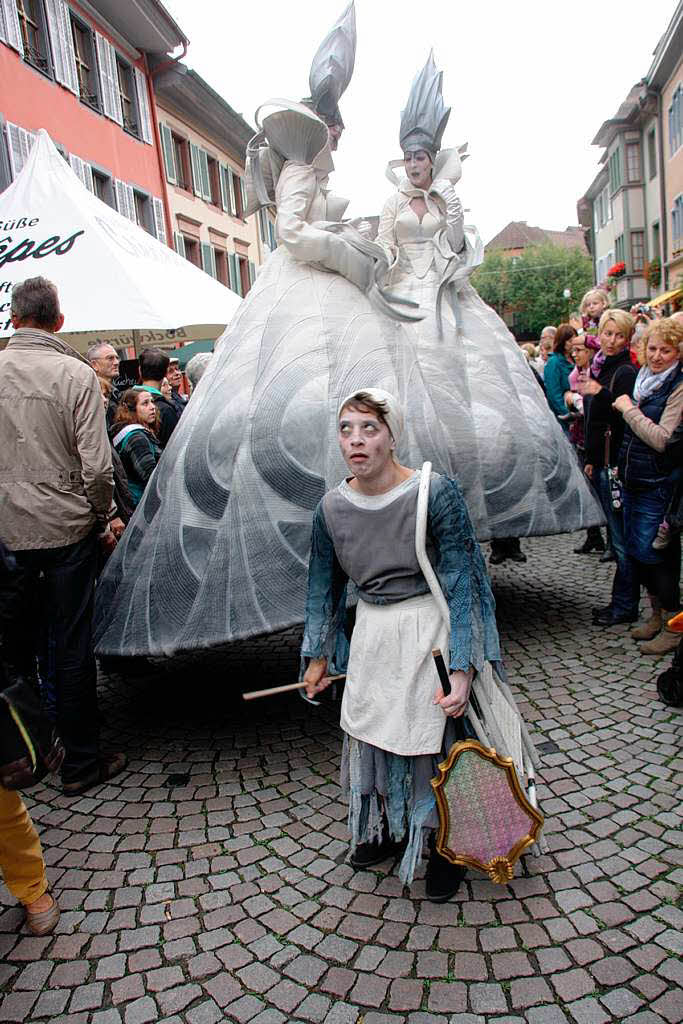
[[[95,373],[55,337],[65,322],[55,286],[44,278],[15,285],[11,321],[15,333],[0,352],[0,540],[31,602],[13,646],[29,668],[40,648],[67,751],[63,792],[77,795],[126,764],[100,755],[92,646],[98,549],[116,545],[112,455]]]

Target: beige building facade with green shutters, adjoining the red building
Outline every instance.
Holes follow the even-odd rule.
[[[275,245],[264,212],[245,215],[254,129],[183,65],[153,70],[153,77],[175,248],[245,296]]]

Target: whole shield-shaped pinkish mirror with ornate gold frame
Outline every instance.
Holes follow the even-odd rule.
[[[437,852],[507,884],[544,821],[524,796],[512,760],[466,739],[453,744],[438,771],[431,780],[439,816]]]

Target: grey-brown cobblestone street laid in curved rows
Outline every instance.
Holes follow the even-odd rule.
[[[62,914],[34,938],[0,889],[0,1021],[676,1024],[683,1020],[682,715],[671,655],[590,625],[611,565],[578,536],[492,570],[542,754],[548,856],[451,903],[345,862],[338,708],[294,694],[296,631],[101,677],[130,757],[79,799],[27,798]]]

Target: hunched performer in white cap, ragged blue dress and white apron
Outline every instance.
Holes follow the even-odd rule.
[[[463,717],[474,672],[500,660],[495,602],[456,480],[432,473],[427,550],[446,597],[446,624],[420,569],[415,529],[420,472],[396,458],[397,400],[364,388],[339,407],[339,444],[351,475],[313,516],[302,657],[306,692],[346,671],[342,788],[349,802],[351,864],[364,869],[402,852],[413,881],[429,841],[426,889],[442,902],[464,869],[438,856],[430,779],[451,744],[469,735]],[[347,588],[357,593],[349,645]],[[449,651],[452,691],[438,685],[431,651]]]

